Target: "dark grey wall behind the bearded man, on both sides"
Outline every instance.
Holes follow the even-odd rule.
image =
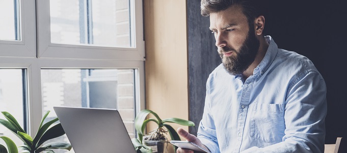
[[[200,15],[200,1],[187,1],[189,60],[189,119],[197,125],[202,116],[205,83],[220,63],[209,18]],[[327,84],[326,143],[342,138],[339,152],[347,152],[347,1],[271,1],[265,16],[265,35],[279,48],[312,60]],[[190,128],[196,135],[198,126]]]

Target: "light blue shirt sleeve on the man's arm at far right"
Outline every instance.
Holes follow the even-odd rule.
[[[288,86],[282,142],[267,147],[251,147],[246,152],[324,152],[326,84],[322,76],[310,71]]]

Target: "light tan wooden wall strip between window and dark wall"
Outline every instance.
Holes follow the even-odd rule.
[[[145,0],[143,3],[146,108],[162,119],[188,119],[185,0]],[[151,124],[147,131],[154,128]],[[188,130],[188,127],[182,128]]]

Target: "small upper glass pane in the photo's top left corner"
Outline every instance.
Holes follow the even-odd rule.
[[[17,1],[13,0],[0,1],[0,39],[2,40],[19,40],[17,4]]]

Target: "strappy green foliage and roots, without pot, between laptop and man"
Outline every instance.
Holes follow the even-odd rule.
[[[146,119],[148,114],[153,114],[155,118]],[[146,140],[167,140],[165,136],[165,134],[167,133],[170,134],[171,140],[181,140],[176,130],[166,123],[175,123],[182,126],[195,126],[195,124],[190,120],[184,120],[180,118],[161,119],[155,112],[148,109],[144,109],[135,118],[135,129],[138,132],[139,142],[141,144],[143,144],[142,139],[144,136],[145,128],[150,121],[153,121],[158,126],[156,129],[148,133],[148,137],[146,137]],[[175,147],[175,149],[177,148]]]

